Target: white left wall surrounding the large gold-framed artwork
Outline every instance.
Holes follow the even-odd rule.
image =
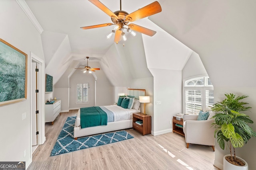
[[[30,51],[44,60],[40,33],[18,3],[14,0],[1,0],[0,11],[0,38],[26,53],[28,62],[30,62]],[[28,63],[28,70],[30,70],[30,63]],[[26,76],[28,78],[27,99],[0,106],[0,127],[2,129],[0,131],[0,161],[26,161],[27,168],[32,161],[29,71]],[[22,120],[22,113],[26,113],[24,120]],[[26,156],[24,156],[25,150]]]

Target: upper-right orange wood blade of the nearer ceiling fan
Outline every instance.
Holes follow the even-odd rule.
[[[130,22],[136,21],[154,14],[157,14],[158,12],[161,12],[162,8],[160,4],[155,1],[151,4],[148,4],[147,6],[144,6],[143,8],[138,9],[137,11],[132,12],[131,14],[128,14],[126,16],[126,20],[129,20]]]

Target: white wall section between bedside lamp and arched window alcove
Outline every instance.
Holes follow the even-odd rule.
[[[182,71],[149,69],[154,76],[153,135],[161,135],[172,132],[172,117],[182,113]],[[156,101],[162,104],[156,105]]]

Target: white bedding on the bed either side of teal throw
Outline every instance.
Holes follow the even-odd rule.
[[[124,109],[121,106],[117,105],[110,105],[110,106],[104,106],[109,111],[112,111],[114,114],[114,121],[122,121],[122,120],[129,120],[132,119],[133,113],[140,113],[140,108],[138,110],[136,109]],[[81,125],[80,123],[80,109],[76,115],[76,127],[79,127]]]

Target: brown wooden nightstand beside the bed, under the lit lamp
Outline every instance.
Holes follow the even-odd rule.
[[[143,125],[138,125],[136,121],[142,121]],[[133,113],[133,129],[142,135],[151,134],[151,116],[143,113]]]

